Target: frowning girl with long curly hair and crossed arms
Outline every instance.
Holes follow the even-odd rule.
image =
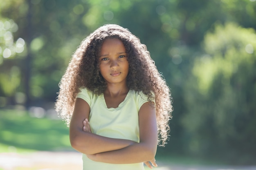
[[[143,170],[143,162],[157,166],[157,144],[166,144],[173,108],[146,46],[108,24],[73,54],[56,110],[70,126],[72,147],[83,153],[83,170]]]

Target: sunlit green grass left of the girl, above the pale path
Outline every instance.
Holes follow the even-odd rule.
[[[26,111],[0,110],[0,151],[72,150],[62,120],[31,117]]]

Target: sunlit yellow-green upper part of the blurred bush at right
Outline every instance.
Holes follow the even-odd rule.
[[[244,63],[252,68],[255,47],[254,29],[238,29],[236,24],[227,24],[225,28],[217,25],[216,33],[208,33],[205,36],[206,55],[197,60],[201,64],[196,64],[193,70],[199,77],[201,93],[206,93],[212,88],[210,85],[214,85],[213,79],[220,73],[225,77],[224,83],[229,84],[231,75],[239,72],[239,64]]]

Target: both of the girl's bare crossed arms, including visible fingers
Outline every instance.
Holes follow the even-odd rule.
[[[126,139],[103,137],[90,132],[88,120],[90,106],[83,99],[77,98],[70,122],[70,143],[72,147],[94,161],[105,163],[144,162],[150,168],[155,164],[157,149],[157,123],[155,108],[149,102],[139,110],[140,142]]]

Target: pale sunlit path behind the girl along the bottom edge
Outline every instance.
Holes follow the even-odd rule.
[[[254,167],[167,165],[157,161],[155,170],[256,170]],[[0,170],[81,170],[78,152],[0,153]],[[148,170],[148,169],[147,169]]]

